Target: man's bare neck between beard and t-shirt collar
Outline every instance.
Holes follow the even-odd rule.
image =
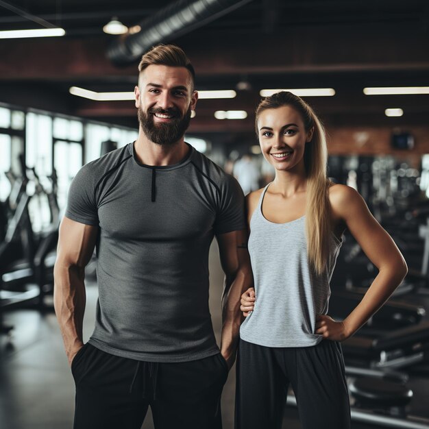
[[[162,167],[177,164],[188,154],[189,147],[184,143],[184,138],[169,145],[157,145],[149,140],[142,130],[138,133],[138,138],[134,143],[134,153],[138,162],[145,165]]]

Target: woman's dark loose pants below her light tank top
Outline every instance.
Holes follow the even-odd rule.
[[[341,346],[264,347],[240,340],[236,429],[280,429],[292,385],[303,429],[350,429]]]

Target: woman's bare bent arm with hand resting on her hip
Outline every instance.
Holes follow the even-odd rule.
[[[378,268],[378,275],[367,293],[342,322],[326,315],[317,318],[316,334],[332,341],[342,341],[352,336],[380,309],[402,282],[408,269],[391,236],[374,219],[363,198],[353,188],[332,186],[330,203],[334,230],[341,229],[341,225],[348,228],[365,255]]]

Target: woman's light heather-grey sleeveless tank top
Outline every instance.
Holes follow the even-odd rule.
[[[328,312],[329,282],[342,241],[331,234],[326,270],[317,275],[308,264],[305,217],[273,223],[262,215],[268,186],[250,220],[256,303],[240,336],[267,347],[309,347],[322,339],[315,334],[316,317]]]

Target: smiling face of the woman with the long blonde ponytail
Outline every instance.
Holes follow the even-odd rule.
[[[291,106],[262,110],[258,117],[262,154],[276,170],[304,167],[304,149],[312,131],[306,132],[301,114]]]

